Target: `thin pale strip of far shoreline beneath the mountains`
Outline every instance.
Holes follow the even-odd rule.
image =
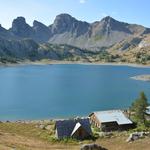
[[[2,64],[0,63],[0,67],[14,67],[14,66],[24,66],[24,65],[100,65],[100,66],[128,66],[128,67],[135,67],[135,68],[150,68],[150,65],[143,65],[143,64],[132,64],[132,63],[109,63],[109,62],[73,62],[73,61],[24,61],[18,62],[16,64]]]

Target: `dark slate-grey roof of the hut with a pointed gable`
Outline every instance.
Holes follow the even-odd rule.
[[[89,135],[92,135],[89,118],[78,118],[69,120],[56,121],[56,129],[58,138],[70,137],[80,127],[83,127]]]

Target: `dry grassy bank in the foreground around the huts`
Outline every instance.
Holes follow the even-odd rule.
[[[108,150],[149,150],[150,137],[126,143],[128,132],[114,132],[96,141],[58,141],[54,138],[54,122],[49,130],[39,128],[39,123],[0,123],[0,150],[79,150],[84,143],[97,143]],[[37,127],[38,126],[38,127]]]

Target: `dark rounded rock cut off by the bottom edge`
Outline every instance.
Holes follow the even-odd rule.
[[[85,144],[81,147],[81,150],[107,150],[97,144]]]

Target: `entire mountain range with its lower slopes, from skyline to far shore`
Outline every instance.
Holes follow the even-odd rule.
[[[88,23],[60,14],[49,26],[36,20],[30,26],[24,17],[17,17],[9,30],[0,25],[0,60],[46,58],[145,63],[149,61],[149,46],[141,48],[139,45],[149,37],[150,28],[120,22],[110,16]],[[148,56],[135,58],[143,49]],[[131,53],[135,55],[132,61],[126,57]]]

